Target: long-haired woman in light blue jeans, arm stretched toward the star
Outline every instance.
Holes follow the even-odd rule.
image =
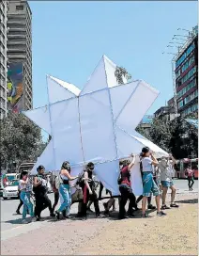
[[[66,218],[69,218],[69,208],[71,204],[71,193],[69,188],[69,181],[78,179],[79,176],[70,176],[70,165],[68,161],[62,164],[61,171],[58,175],[59,179],[59,194],[62,197],[62,203],[59,209],[55,212],[56,218],[60,219],[60,214],[66,210]]]

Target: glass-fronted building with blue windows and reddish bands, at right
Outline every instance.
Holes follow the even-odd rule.
[[[198,27],[176,57],[176,104],[183,117],[198,111]]]

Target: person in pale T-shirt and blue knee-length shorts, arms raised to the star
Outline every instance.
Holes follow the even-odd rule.
[[[165,216],[166,214],[161,211],[161,192],[157,184],[153,180],[153,167],[159,165],[158,160],[150,152],[148,147],[143,148],[141,153],[141,162],[143,166],[143,201],[142,201],[142,216],[148,217],[145,213],[146,200],[151,196],[151,192],[156,197],[157,216]]]

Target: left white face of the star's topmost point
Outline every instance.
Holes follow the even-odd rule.
[[[101,57],[95,71],[91,74],[90,79],[85,84],[80,95],[84,95],[85,93],[96,91],[102,88],[108,88],[103,56]]]

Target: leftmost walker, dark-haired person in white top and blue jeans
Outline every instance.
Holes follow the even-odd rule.
[[[20,199],[23,201],[23,224],[27,224],[26,215],[27,211],[32,217],[32,221],[35,221],[34,212],[33,212],[33,204],[30,200],[31,191],[30,191],[30,183],[28,179],[27,171],[23,171],[20,176],[19,189],[20,189]]]

